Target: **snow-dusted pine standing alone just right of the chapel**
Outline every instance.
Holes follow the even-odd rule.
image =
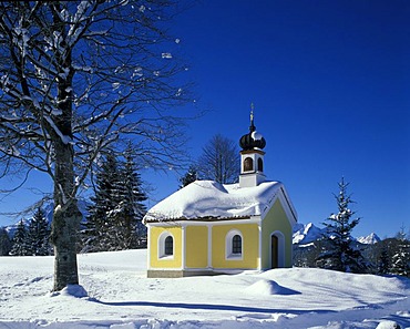
[[[317,265],[322,268],[349,273],[365,273],[367,264],[351,236],[351,230],[359,224],[360,218],[352,219],[355,212],[349,208],[352,203],[347,194],[349,183],[341,178],[339,194],[335,195],[339,212],[331,214],[324,225],[322,253],[317,258]]]

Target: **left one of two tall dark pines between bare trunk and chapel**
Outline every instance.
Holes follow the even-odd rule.
[[[120,203],[120,173],[116,158],[107,154],[96,173],[95,195],[90,198],[89,216],[82,230],[84,253],[115,250],[115,232],[112,218]]]

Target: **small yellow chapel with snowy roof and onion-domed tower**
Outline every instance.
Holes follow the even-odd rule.
[[[293,266],[297,213],[284,184],[265,175],[266,144],[252,109],[237,184],[195,181],[146,213],[148,277]]]

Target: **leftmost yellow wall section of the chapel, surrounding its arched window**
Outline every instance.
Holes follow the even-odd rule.
[[[160,236],[163,233],[170,233],[174,239],[174,255],[172,257],[160,257],[158,246]],[[150,250],[150,267],[155,268],[176,268],[182,267],[182,227],[181,226],[170,226],[166,227],[150,227],[148,235],[148,250]]]

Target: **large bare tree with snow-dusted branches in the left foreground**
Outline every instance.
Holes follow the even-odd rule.
[[[24,168],[53,184],[54,290],[79,284],[76,195],[104,150],[133,140],[141,166],[175,165],[188,100],[155,1],[0,3],[0,177]]]

